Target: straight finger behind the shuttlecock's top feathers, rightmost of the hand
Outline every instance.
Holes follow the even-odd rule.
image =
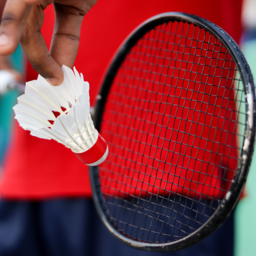
[[[54,3],[55,29],[50,48],[50,55],[62,66],[72,68],[78,47],[83,13],[71,6]]]

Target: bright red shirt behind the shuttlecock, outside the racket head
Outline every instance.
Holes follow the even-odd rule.
[[[156,14],[183,11],[216,23],[237,42],[242,0],[99,0],[84,17],[76,69],[90,83],[93,104],[111,57],[141,22]],[[50,45],[53,6],[45,11],[42,34]],[[37,73],[27,66],[27,81]],[[88,167],[57,142],[33,137],[15,123],[9,154],[3,167],[0,194],[6,198],[91,196]]]

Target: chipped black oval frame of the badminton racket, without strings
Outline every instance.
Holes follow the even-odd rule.
[[[207,237],[219,225],[229,216],[230,212],[235,208],[238,203],[238,199],[246,182],[249,166],[251,163],[256,132],[256,96],[255,85],[252,73],[250,71],[247,61],[237,45],[237,43],[219,26],[213,24],[209,20],[200,18],[196,15],[186,14],[181,12],[166,12],[149,18],[140,26],[138,26],[119,47],[117,53],[114,55],[111,64],[108,68],[108,72],[103,80],[100,94],[97,97],[94,114],[94,125],[98,131],[101,130],[101,118],[104,110],[104,106],[107,100],[107,96],[110,90],[110,86],[114,80],[119,66],[125,59],[130,49],[137,43],[137,41],[143,37],[150,29],[164,24],[169,21],[183,21],[195,24],[206,31],[210,32],[214,37],[228,49],[230,55],[233,57],[238,70],[240,72],[241,80],[243,82],[244,91],[246,95],[246,127],[243,141],[243,150],[239,156],[238,166],[236,174],[233,177],[232,185],[227,192],[224,199],[221,201],[218,209],[214,214],[204,223],[201,228],[197,229],[187,237],[168,242],[168,243],[145,243],[129,238],[122,230],[119,230],[115,226],[114,221],[111,219],[110,212],[106,201],[101,193],[98,167],[90,166],[90,178],[91,188],[93,193],[93,200],[96,209],[101,217],[101,220],[109,229],[110,233],[118,238],[121,242],[128,246],[142,249],[146,251],[173,251],[183,249],[185,247],[192,246],[193,244],[201,241]]]

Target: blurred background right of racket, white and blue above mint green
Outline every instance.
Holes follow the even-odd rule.
[[[256,0],[244,0],[240,47],[256,79]],[[256,150],[246,183],[246,197],[239,201],[235,214],[235,256],[256,255]]]

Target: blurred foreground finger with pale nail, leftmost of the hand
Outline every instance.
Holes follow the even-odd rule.
[[[0,55],[10,55],[17,49],[23,27],[32,6],[40,0],[8,0],[0,26]]]

